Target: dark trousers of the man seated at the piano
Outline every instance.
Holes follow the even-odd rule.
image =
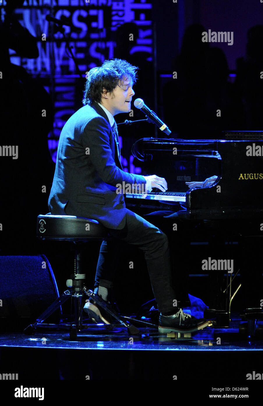
[[[160,312],[175,309],[176,293],[172,278],[168,238],[159,228],[138,214],[126,209],[126,224],[121,230],[108,229],[113,237],[103,241],[95,276],[95,288],[101,284],[111,288],[115,279],[116,240],[119,239],[144,251],[153,294]]]

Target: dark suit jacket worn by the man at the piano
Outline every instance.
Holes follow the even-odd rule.
[[[59,138],[51,192],[51,214],[87,217],[105,227],[125,226],[123,194],[116,185],[144,184],[142,175],[124,172],[107,114],[98,103],[76,111]]]

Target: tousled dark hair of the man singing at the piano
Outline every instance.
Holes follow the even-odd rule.
[[[137,66],[131,65],[127,60],[117,58],[107,59],[102,66],[92,68],[87,74],[83,104],[100,103],[103,88],[112,94],[115,87],[117,85],[123,86],[123,82],[128,78],[136,83],[138,69]]]

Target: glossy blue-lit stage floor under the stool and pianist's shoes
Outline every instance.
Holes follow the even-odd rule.
[[[71,341],[68,330],[43,328],[41,325],[32,335],[24,333],[4,333],[0,337],[0,347],[65,348],[83,350],[159,350],[159,351],[229,351],[263,350],[263,335],[256,339],[240,334],[239,321],[233,320],[228,328],[206,327],[195,333],[159,334],[156,328],[139,328],[140,334],[130,335],[121,324],[86,324]],[[262,334],[262,330],[261,330]]]

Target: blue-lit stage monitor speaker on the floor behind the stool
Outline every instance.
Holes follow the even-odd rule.
[[[59,292],[45,255],[0,256],[0,329],[23,331],[57,298]],[[59,323],[61,306],[45,323]]]

